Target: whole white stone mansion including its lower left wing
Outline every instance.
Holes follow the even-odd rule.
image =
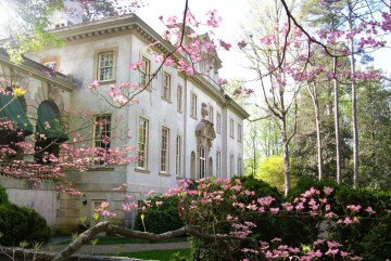
[[[127,184],[131,200],[140,201],[150,191],[165,193],[180,179],[242,174],[243,120],[249,114],[216,83],[222,67],[217,56],[197,65],[202,74],[188,76],[163,66],[151,79],[160,63],[146,47],[159,41],[153,48],[168,53],[172,45],[135,14],[88,23],[58,19],[53,34],[65,44],[27,55],[22,65],[10,63],[7,53],[0,52],[0,78],[12,78],[21,86],[28,81],[17,106],[30,122],[29,132],[42,122],[61,121],[67,128],[59,127],[49,138],[72,141],[75,130],[89,126],[80,129],[90,138],[86,142],[103,148],[126,143],[138,149],[139,159],[117,167],[97,162],[87,171],[67,172],[81,196],[58,192],[52,182],[34,187],[25,180],[0,177],[11,201],[35,208],[62,233],[74,230],[80,217],[92,223],[93,210],[102,201],[110,203],[117,222],[131,226],[134,214],[121,211],[124,192],[113,191],[121,184]],[[143,63],[140,69],[129,68],[138,61]],[[150,84],[136,96],[137,104],[114,108],[88,89],[94,80],[105,92],[111,84],[125,81]],[[73,112],[85,112],[86,117],[77,118]],[[2,116],[12,117],[12,113]],[[86,125],[87,120],[105,123],[96,128]],[[111,142],[97,139],[98,132]],[[131,138],[119,139],[119,132]]]

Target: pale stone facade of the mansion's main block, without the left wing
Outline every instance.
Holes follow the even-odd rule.
[[[58,193],[50,184],[42,184],[35,193],[43,193],[43,187],[50,187],[42,196],[50,203],[40,200],[40,196],[24,203],[18,200],[20,190],[25,190],[23,184],[13,190],[8,186],[13,201],[36,207],[50,220],[51,225],[65,232],[79,223],[79,217],[87,217],[87,223],[91,223],[93,209],[106,200],[117,213],[117,222],[130,226],[134,216],[121,211],[124,192],[113,191],[118,184],[128,184],[127,193],[134,195],[133,200],[139,201],[150,191],[163,194],[178,179],[242,174],[242,127],[243,119],[249,115],[215,83],[218,81],[218,68],[222,67],[218,57],[202,65],[207,68],[205,74],[210,78],[201,75],[190,77],[174,68],[163,67],[150,88],[137,95],[138,104],[114,109],[87,89],[93,80],[103,77],[100,75],[101,60],[112,61],[110,79],[100,82],[102,90],[108,91],[110,84],[115,82],[142,81],[144,76],[129,69],[129,63],[148,61],[151,73],[157,69],[160,64],[147,51],[147,44],[160,41],[154,48],[163,53],[172,50],[171,44],[135,14],[60,27],[53,32],[64,39],[64,47],[47,48],[29,55],[29,58],[66,75],[67,79],[73,79],[74,86],[72,90],[50,94],[49,89],[45,88],[47,83],[30,84],[27,104],[37,106],[46,97],[55,101],[64,114],[71,110],[89,112],[91,122],[102,115],[109,115],[111,119],[122,118],[115,129],[128,130],[131,139],[112,136],[111,146],[127,143],[139,147],[142,141],[144,160],[116,168],[92,166],[85,172],[67,173],[74,186],[84,192],[83,196]],[[80,121],[72,118],[68,123],[73,130],[79,127]],[[114,130],[113,126],[111,128]],[[81,132],[88,135],[91,129]],[[28,193],[33,192],[22,194]],[[52,207],[50,210],[39,209],[38,205]]]

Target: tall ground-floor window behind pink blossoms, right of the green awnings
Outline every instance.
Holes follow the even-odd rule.
[[[109,157],[111,138],[111,115],[94,116],[93,119],[93,146],[97,148],[97,164],[103,165]]]

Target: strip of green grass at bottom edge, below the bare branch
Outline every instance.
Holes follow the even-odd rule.
[[[191,260],[190,249],[167,249],[167,250],[153,250],[153,251],[139,251],[139,252],[121,252],[118,257],[171,261],[171,257],[175,253],[179,253],[180,257],[185,257],[187,260]],[[114,255],[102,253],[102,256],[103,255],[114,256]]]

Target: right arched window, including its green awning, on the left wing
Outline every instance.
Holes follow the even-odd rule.
[[[66,140],[58,106],[50,101],[42,102],[38,107],[36,130],[35,160],[38,164],[51,162],[50,155],[59,156],[59,145]]]

